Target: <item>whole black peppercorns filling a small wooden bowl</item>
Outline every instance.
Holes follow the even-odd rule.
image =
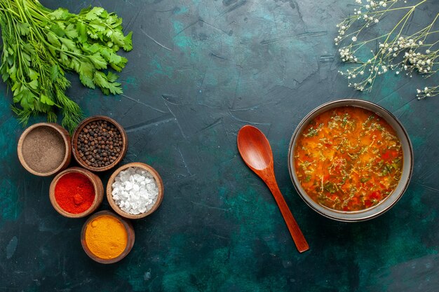
[[[115,125],[106,120],[88,123],[78,135],[78,154],[91,167],[106,167],[121,155],[123,139]]]

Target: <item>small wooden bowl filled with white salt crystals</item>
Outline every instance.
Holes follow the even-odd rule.
[[[109,178],[107,199],[117,214],[138,219],[156,211],[163,200],[163,181],[149,165],[132,162]]]

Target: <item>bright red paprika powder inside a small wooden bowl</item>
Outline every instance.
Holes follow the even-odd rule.
[[[79,172],[69,172],[56,183],[55,200],[65,211],[80,214],[93,204],[95,188],[87,176]]]

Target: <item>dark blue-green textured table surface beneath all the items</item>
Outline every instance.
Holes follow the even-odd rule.
[[[76,13],[103,6],[133,31],[123,95],[104,97],[77,76],[70,76],[68,95],[87,116],[111,116],[126,128],[123,163],[155,167],[165,197],[156,213],[133,222],[135,245],[124,260],[90,260],[79,241],[86,219],[60,216],[48,198],[51,179],[32,176],[18,162],[23,129],[1,83],[1,292],[439,291],[439,98],[414,98],[424,84],[419,76],[386,74],[370,93],[347,87],[333,39],[353,0],[42,3]],[[433,19],[438,6],[431,0],[416,19]],[[299,121],[344,97],[389,109],[414,146],[407,192],[363,223],[312,211],[287,168]],[[271,142],[279,186],[311,246],[305,253],[297,252],[271,193],[238,155],[236,133],[245,124]],[[102,174],[104,183],[110,174]]]

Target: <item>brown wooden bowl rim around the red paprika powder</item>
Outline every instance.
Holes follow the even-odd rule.
[[[91,183],[93,183],[93,187],[95,188],[95,199],[93,200],[93,203],[86,211],[83,211],[82,213],[79,214],[72,214],[66,211],[65,209],[62,209],[62,207],[60,207],[60,205],[58,204],[55,198],[56,184],[58,183],[58,181],[62,176],[64,176],[65,174],[70,174],[72,172],[78,172],[80,174],[83,174],[84,176],[87,176],[87,178],[91,181]],[[83,169],[81,167],[70,167],[65,169],[65,171],[63,172],[60,172],[57,176],[55,176],[52,183],[50,183],[49,198],[53,208],[62,216],[68,218],[82,218],[90,215],[91,213],[93,213],[93,211],[97,209],[97,207],[100,206],[104,198],[104,186],[102,185],[102,181],[100,180],[99,176],[93,174],[93,172],[89,172],[87,169]]]

